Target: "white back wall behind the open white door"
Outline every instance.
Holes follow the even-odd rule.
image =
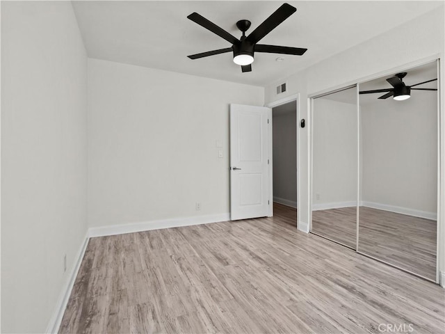
[[[229,104],[264,88],[90,59],[88,98],[91,227],[229,212]]]

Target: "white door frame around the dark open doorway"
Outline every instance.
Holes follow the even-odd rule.
[[[264,106],[267,106],[268,108],[275,108],[276,106],[281,106],[282,104],[286,104],[289,102],[296,102],[296,113],[297,113],[297,117],[296,117],[296,129],[297,129],[297,133],[296,133],[296,141],[297,141],[297,145],[296,145],[296,150],[297,150],[297,228],[298,226],[300,226],[300,214],[298,214],[298,208],[300,207],[300,150],[298,150],[298,145],[301,142],[300,141],[300,127],[298,126],[298,123],[300,122],[300,93],[296,93],[293,95],[289,95],[286,97],[283,97],[280,100],[274,101],[274,102],[270,102],[268,104],[264,104]],[[269,207],[269,214],[270,217],[273,216],[273,141],[272,141],[272,134],[273,134],[273,127],[272,127],[272,119],[270,120],[270,127],[269,127],[269,157],[270,157],[270,164],[269,164],[269,198],[271,198],[272,200],[272,205],[270,205]]]

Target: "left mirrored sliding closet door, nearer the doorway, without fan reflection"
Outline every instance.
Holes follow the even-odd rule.
[[[312,100],[311,232],[357,244],[357,87]]]

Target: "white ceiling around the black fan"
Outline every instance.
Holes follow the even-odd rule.
[[[236,21],[253,31],[284,1],[72,1],[90,58],[266,86],[270,82],[353,47],[443,1],[289,1],[297,12],[261,44],[305,47],[303,56],[255,54],[252,72],[242,73],[232,54],[191,60],[190,54],[230,47],[187,15],[197,12],[235,37]],[[247,34],[248,34],[247,33]]]

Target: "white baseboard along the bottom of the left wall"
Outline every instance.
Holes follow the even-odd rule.
[[[56,303],[56,308],[54,308],[53,315],[51,319],[49,319],[47,331],[45,333],[58,333],[60,323],[62,322],[63,313],[65,312],[68,300],[70,299],[72,287],[74,286],[74,281],[76,280],[77,273],[79,272],[79,268],[81,267],[83,255],[85,254],[86,246],[88,245],[88,240],[89,238],[87,234],[85,236],[85,239],[83,240],[81,248],[76,254],[76,257],[74,257],[75,260],[74,266],[70,271],[70,276],[67,282],[65,283],[65,285],[63,285],[58,301]]]

